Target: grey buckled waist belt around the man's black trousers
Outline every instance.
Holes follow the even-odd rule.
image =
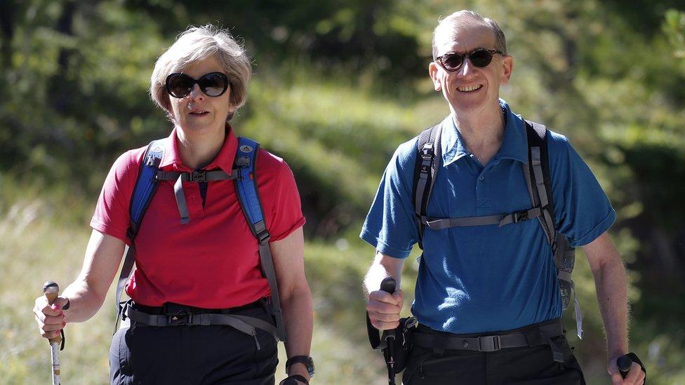
[[[433,349],[436,353],[444,353],[445,350],[489,353],[500,349],[550,345],[554,360],[563,362],[563,354],[552,342],[552,338],[561,335],[564,335],[564,325],[560,318],[514,330],[467,335],[437,332],[425,325],[418,325],[413,333],[413,344]]]

